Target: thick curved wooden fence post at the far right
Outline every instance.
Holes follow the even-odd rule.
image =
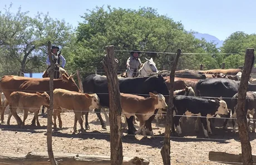
[[[238,89],[238,103],[237,103],[237,122],[239,130],[239,138],[242,146],[243,165],[253,164],[252,147],[249,141],[249,131],[247,124],[247,117],[245,113],[245,98],[247,93],[247,86],[250,73],[252,72],[254,64],[254,49],[247,49],[244,59],[244,69]]]

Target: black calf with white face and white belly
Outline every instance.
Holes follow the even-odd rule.
[[[185,114],[186,116],[202,116],[201,123],[205,137],[208,136],[208,132],[211,134],[209,118],[215,116],[215,114],[228,114],[228,106],[225,101],[220,99],[206,99],[193,96],[175,96],[174,103],[174,128],[177,133],[181,134],[181,127],[179,124],[180,117]],[[195,123],[195,129],[198,127],[198,122]],[[208,132],[207,132],[208,127]]]

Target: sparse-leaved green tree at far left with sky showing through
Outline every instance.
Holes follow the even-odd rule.
[[[65,21],[53,20],[48,14],[38,13],[35,18],[27,16],[28,12],[11,13],[10,8],[0,13],[0,47],[4,53],[3,74],[17,74],[37,68],[46,69],[47,41],[61,47],[70,42],[72,27]],[[7,69],[4,69],[7,68]],[[7,72],[8,71],[8,72]]]

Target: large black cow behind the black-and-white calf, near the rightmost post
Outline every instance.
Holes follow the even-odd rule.
[[[240,81],[233,81],[227,78],[206,78],[200,79],[196,84],[196,96],[201,97],[223,97],[228,108],[231,109],[231,98],[238,93]],[[256,91],[256,84],[248,84],[247,91]],[[225,98],[227,97],[227,98]],[[226,118],[230,117],[230,112]],[[225,119],[223,128],[227,129],[228,119]]]

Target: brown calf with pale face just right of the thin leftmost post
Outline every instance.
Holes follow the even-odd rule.
[[[58,116],[59,127],[62,128],[61,108],[70,109],[75,113],[73,133],[76,132],[77,120],[80,124],[81,132],[85,132],[82,126],[82,114],[88,113],[88,111],[92,111],[95,108],[100,108],[100,98],[97,94],[73,92],[66,89],[55,89],[53,91],[53,102],[53,109],[55,109],[53,112],[53,128],[57,128],[56,116]]]

